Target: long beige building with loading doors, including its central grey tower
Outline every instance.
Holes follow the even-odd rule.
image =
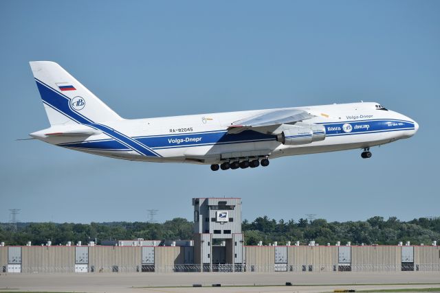
[[[440,246],[244,246],[240,198],[193,198],[190,240],[119,240],[65,246],[0,245],[0,272],[440,272]],[[0,239],[1,240],[1,239]]]

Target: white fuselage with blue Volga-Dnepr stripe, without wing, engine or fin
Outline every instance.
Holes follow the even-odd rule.
[[[302,145],[285,145],[277,141],[274,135],[254,130],[228,133],[234,121],[268,110],[84,124],[98,131],[98,134],[86,139],[45,135],[53,130],[51,128],[31,135],[64,148],[117,159],[216,164],[252,157],[274,159],[298,154],[366,149],[405,139],[417,132],[419,126],[415,121],[392,110],[378,109],[377,105],[361,102],[288,108],[304,110],[314,115],[307,123],[325,126],[324,140]]]

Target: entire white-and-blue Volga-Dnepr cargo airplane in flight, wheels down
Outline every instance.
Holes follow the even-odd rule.
[[[218,169],[269,165],[297,154],[370,148],[412,137],[419,125],[373,102],[123,119],[60,65],[30,62],[50,128],[30,136],[117,159],[197,163]]]

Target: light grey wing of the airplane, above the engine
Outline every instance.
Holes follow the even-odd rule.
[[[228,127],[228,133],[240,133],[249,129],[267,133],[267,130],[274,127],[276,128],[281,124],[292,124],[312,117],[314,117],[314,115],[300,109],[270,110],[259,115],[234,121],[232,125]]]

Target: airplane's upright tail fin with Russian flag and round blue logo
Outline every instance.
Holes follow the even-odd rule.
[[[31,61],[30,67],[52,126],[122,119],[57,63]]]

